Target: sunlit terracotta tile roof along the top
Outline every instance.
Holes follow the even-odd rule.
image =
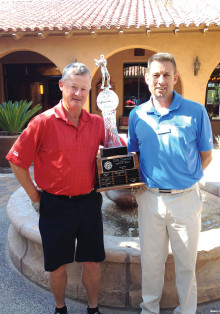
[[[220,26],[219,0],[0,0],[0,32]]]

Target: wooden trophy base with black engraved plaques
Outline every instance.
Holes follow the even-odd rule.
[[[138,156],[134,153],[97,157],[98,192],[143,186]]]

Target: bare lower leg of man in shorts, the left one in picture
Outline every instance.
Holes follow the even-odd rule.
[[[61,308],[65,305],[65,290],[67,285],[67,265],[62,265],[50,273],[50,288],[53,293],[56,307]]]

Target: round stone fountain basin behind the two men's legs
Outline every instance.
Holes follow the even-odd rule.
[[[28,279],[49,289],[48,273],[44,271],[38,214],[23,188],[12,194],[7,206],[10,220],[8,248],[13,264]],[[219,299],[220,295],[220,229],[201,233],[196,275],[198,303]],[[112,307],[138,308],[141,302],[141,265],[138,237],[105,235],[106,259],[102,263],[99,304]],[[81,283],[81,264],[68,266],[66,295],[86,300]],[[161,308],[177,306],[175,271],[169,252]]]

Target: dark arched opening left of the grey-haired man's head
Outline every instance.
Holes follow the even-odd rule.
[[[45,111],[61,99],[58,81],[61,72],[49,59],[31,51],[17,51],[0,59],[4,99],[32,100]]]

